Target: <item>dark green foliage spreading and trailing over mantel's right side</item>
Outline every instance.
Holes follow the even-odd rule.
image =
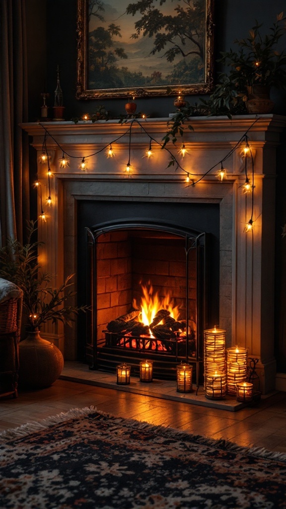
[[[237,51],[221,52],[218,62],[227,66],[228,72],[219,75],[207,100],[200,99],[198,104],[187,102],[180,107],[169,124],[163,146],[169,141],[176,143],[177,136],[183,135],[184,121],[189,117],[226,115],[232,118],[232,115],[247,111],[268,113],[272,110],[274,103],[269,99],[270,88],[286,89],[286,50],[277,51],[277,44],[286,32],[283,12],[277,15],[270,33],[264,37],[260,33],[261,26],[256,21],[248,38],[234,41],[239,47]],[[264,107],[269,109],[261,110]],[[190,125],[188,128],[192,129]]]

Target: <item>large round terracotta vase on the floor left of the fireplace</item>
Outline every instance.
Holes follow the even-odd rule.
[[[64,366],[61,351],[43,340],[39,331],[28,332],[19,343],[19,385],[31,388],[49,387],[59,378]]]

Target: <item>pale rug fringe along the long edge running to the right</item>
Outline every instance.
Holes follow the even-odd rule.
[[[155,426],[155,425],[149,424],[148,422],[145,422],[145,421],[136,421],[135,419],[126,419],[124,417],[116,417],[114,415],[106,414],[105,412],[102,412],[100,410],[97,410],[97,413],[104,415],[104,416],[108,417],[109,419],[112,419],[115,423],[123,423],[124,425],[126,425],[128,427],[148,431],[150,433],[156,433],[157,431],[159,431],[160,434],[167,435],[169,438],[176,438],[176,439],[180,439],[180,440],[190,439],[192,441],[197,442],[200,445],[207,445],[208,447],[223,448],[223,449],[226,449],[229,451],[233,451],[234,453],[241,453],[243,455],[250,455],[250,456],[255,456],[258,458],[286,462],[286,454],[285,453],[271,451],[271,450],[265,449],[264,447],[251,447],[251,446],[245,447],[242,445],[237,445],[234,442],[224,440],[222,438],[216,439],[216,438],[204,437],[202,435],[192,435],[191,433],[188,433],[186,431],[176,430],[175,428],[169,428],[166,426]]]

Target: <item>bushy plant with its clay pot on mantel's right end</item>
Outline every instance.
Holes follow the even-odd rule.
[[[269,113],[274,105],[269,97],[270,88],[286,89],[286,50],[277,50],[285,33],[284,19],[283,12],[278,14],[265,36],[260,32],[262,25],[256,21],[247,38],[234,41],[239,49],[221,52],[218,60],[230,68],[227,75],[237,90],[247,94],[249,113]]]

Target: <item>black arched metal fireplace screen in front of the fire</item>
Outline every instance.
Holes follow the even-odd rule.
[[[117,363],[128,360],[137,373],[144,358],[154,361],[154,376],[175,378],[178,362],[195,364],[198,380],[203,361],[203,330],[207,313],[207,239],[206,233],[182,229],[175,224],[144,219],[112,221],[85,229],[87,233],[87,302],[92,312],[87,315],[86,356],[90,369],[115,371]],[[183,246],[185,266],[184,316],[172,318],[166,309],[159,309],[150,326],[139,322],[139,310],[131,308],[122,316],[110,319],[100,333],[98,318],[99,244],[110,234],[128,232],[165,239],[179,238]],[[102,244],[101,244],[102,246]],[[195,298],[190,295],[190,277],[195,277]],[[112,317],[111,317],[112,318]]]

